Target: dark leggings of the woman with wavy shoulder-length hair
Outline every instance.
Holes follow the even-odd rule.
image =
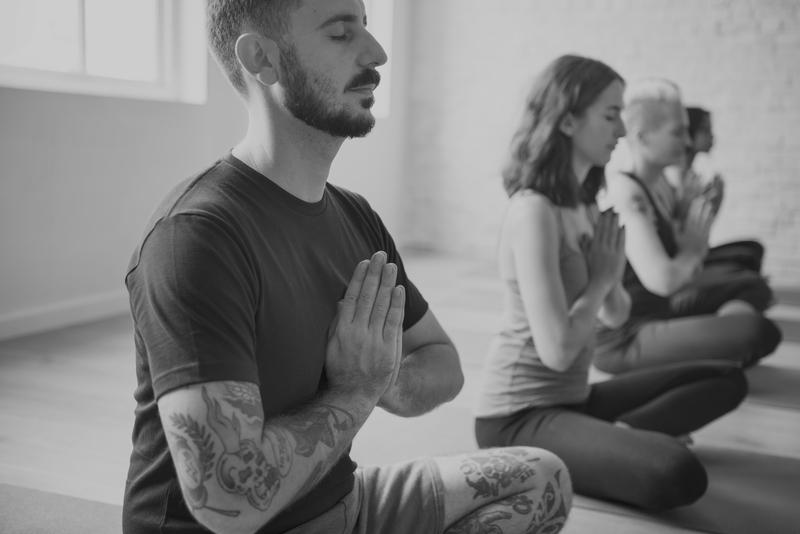
[[[593,384],[581,405],[478,418],[475,436],[481,448],[552,451],[583,495],[663,510],[696,501],[708,485],[700,461],[672,436],[733,410],[746,393],[744,374],[734,365],[674,364]]]

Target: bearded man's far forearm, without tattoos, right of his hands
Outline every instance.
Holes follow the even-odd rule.
[[[454,399],[463,385],[464,375],[453,345],[425,345],[403,359],[397,380],[378,406],[395,415],[414,417]]]

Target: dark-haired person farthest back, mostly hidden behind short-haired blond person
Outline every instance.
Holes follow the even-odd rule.
[[[725,194],[725,182],[722,176],[709,170],[708,154],[714,146],[711,112],[700,107],[686,108],[689,118],[689,143],[686,145],[684,158],[677,165],[664,170],[667,181],[675,190],[674,218],[683,220],[696,198],[704,197],[711,205],[711,213],[716,215]],[[699,165],[698,156],[705,156]],[[746,269],[761,272],[764,261],[764,246],[754,239],[738,240],[709,247],[704,260],[705,267],[713,267],[718,271]]]

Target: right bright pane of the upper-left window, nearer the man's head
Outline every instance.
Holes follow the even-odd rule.
[[[158,81],[158,4],[158,0],[86,0],[87,74]]]

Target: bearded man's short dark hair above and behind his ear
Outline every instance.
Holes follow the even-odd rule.
[[[244,76],[236,59],[236,40],[256,31],[281,42],[289,30],[289,17],[302,0],[208,0],[208,46],[233,87],[245,92]]]

